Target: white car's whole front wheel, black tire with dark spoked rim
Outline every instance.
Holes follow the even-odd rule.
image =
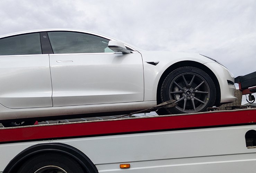
[[[161,102],[176,100],[176,107],[157,111],[158,115],[204,112],[214,105],[216,88],[211,77],[196,67],[180,67],[162,83]]]

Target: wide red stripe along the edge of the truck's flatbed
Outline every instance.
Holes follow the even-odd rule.
[[[54,125],[35,125],[0,129],[0,142],[58,139],[94,135],[139,133],[180,128],[200,128],[251,124],[256,122],[256,109],[215,111],[196,114],[84,121]]]

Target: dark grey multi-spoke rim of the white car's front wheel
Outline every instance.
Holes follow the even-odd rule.
[[[171,81],[169,98],[176,100],[179,111],[199,112],[204,109],[210,98],[210,87],[206,80],[196,73],[182,73]]]

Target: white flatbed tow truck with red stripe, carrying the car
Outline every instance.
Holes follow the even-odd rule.
[[[255,108],[0,128],[1,173],[255,170]]]

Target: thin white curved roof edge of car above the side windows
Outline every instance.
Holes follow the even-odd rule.
[[[20,32],[15,32],[15,33],[10,33],[10,34],[5,34],[5,35],[1,35],[0,38],[4,38],[4,37],[10,37],[10,36],[15,36],[15,35],[21,35],[21,34],[28,34],[28,33],[37,33],[37,32],[47,32],[47,31],[72,31],[72,32],[80,32],[80,33],[86,33],[86,34],[92,34],[92,35],[96,35],[99,37],[103,37],[109,40],[118,40],[115,39],[113,37],[108,37],[102,34],[97,34],[91,31],[86,31],[86,30],[80,30],[80,29],[70,29],[70,28],[50,28],[50,29],[35,29],[35,30],[27,30],[27,31],[20,31]],[[121,40],[119,40],[121,41]],[[123,42],[123,41],[121,41]],[[141,48],[138,48],[136,46],[133,46],[129,43],[123,42],[126,46],[134,49],[134,50],[142,50]]]

